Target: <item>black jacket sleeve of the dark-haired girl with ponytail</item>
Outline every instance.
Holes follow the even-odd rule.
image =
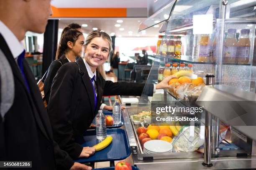
[[[46,79],[44,80],[44,94],[47,104],[49,104],[52,81],[60,67],[61,63],[54,60],[48,68]]]

